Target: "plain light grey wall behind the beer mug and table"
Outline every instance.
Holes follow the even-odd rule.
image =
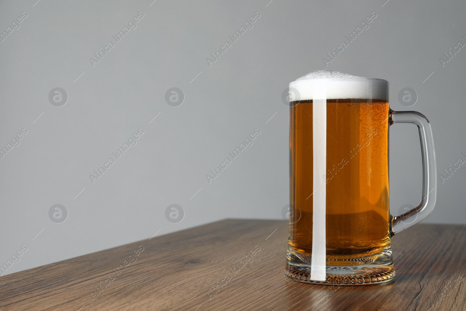
[[[430,117],[438,173],[465,159],[466,50],[443,68],[439,62],[466,43],[464,1],[151,3],[0,2],[1,31],[28,15],[0,43],[1,147],[27,129],[0,159],[0,263],[28,248],[7,273],[226,217],[281,219],[289,195],[281,93],[325,68],[322,58],[372,12],[370,28],[328,68],[386,79],[393,110]],[[138,12],[137,28],[92,67],[89,58]],[[255,12],[254,28],[209,67],[206,57]],[[55,87],[68,93],[62,107],[48,101]],[[178,107],[164,99],[172,87],[185,94]],[[397,100],[405,87],[418,94],[410,108]],[[89,174],[139,128],[137,145],[93,184]],[[254,145],[209,184],[206,174],[255,128]],[[414,125],[396,124],[390,135],[391,210],[398,214],[421,197],[420,146]],[[445,183],[438,179],[426,222],[466,223],[465,181],[463,166]],[[49,219],[54,204],[66,207],[66,221]],[[184,209],[182,221],[165,218],[171,204]]]

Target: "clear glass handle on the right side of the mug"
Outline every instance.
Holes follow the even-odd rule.
[[[417,111],[392,111],[389,114],[389,125],[394,123],[412,123],[419,129],[422,153],[422,200],[417,207],[398,215],[391,216],[391,236],[412,225],[423,221],[435,206],[437,200],[437,167],[432,128],[425,115]],[[412,219],[414,218],[414,221]],[[409,222],[407,221],[409,219]]]

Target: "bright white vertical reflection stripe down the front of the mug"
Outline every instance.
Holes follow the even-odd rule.
[[[325,196],[327,162],[327,92],[325,80],[314,82],[312,104],[313,195],[311,279],[325,280]],[[318,99],[317,99],[318,98]]]

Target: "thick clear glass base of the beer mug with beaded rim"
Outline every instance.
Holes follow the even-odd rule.
[[[290,250],[287,255],[285,275],[295,281],[324,285],[367,285],[387,283],[395,277],[391,249],[377,256],[358,257],[353,264],[347,260],[327,260],[323,281],[311,279],[309,256],[295,255]]]

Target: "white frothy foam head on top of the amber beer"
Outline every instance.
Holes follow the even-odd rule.
[[[341,73],[332,69],[309,72],[289,83],[289,100],[381,99],[388,102],[388,81]]]

